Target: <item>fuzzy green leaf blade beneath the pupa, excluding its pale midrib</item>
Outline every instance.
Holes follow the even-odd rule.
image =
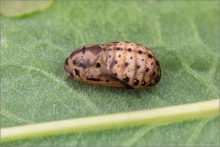
[[[219,3],[56,1],[1,17],[1,127],[153,109],[219,98]],[[92,43],[127,40],[161,63],[155,87],[127,90],[66,77],[65,58]],[[2,146],[219,146],[219,117],[19,140]]]

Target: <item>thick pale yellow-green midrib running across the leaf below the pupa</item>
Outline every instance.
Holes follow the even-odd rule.
[[[141,125],[145,123],[161,125],[190,119],[215,117],[218,115],[219,99],[215,99],[151,110],[141,110],[3,128],[1,130],[1,141],[7,142],[32,137],[103,130],[121,126]],[[146,131],[144,131],[142,134],[145,134],[145,132]]]

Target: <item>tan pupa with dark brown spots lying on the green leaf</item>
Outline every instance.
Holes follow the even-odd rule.
[[[75,81],[118,88],[148,88],[161,77],[154,53],[127,41],[82,46],[66,58],[64,69]]]

